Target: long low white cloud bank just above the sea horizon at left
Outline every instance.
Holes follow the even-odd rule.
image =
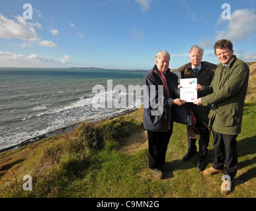
[[[59,59],[50,59],[42,55],[22,55],[0,51],[1,67],[67,67],[72,61],[69,55]]]

